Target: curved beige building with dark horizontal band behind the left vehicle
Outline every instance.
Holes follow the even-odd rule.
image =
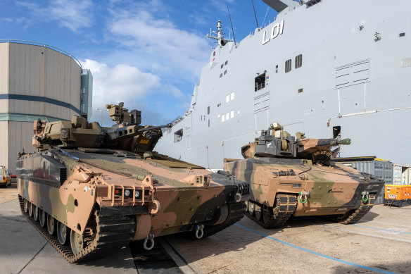
[[[0,165],[14,173],[17,152],[34,151],[34,120],[91,113],[92,76],[63,51],[20,42],[0,43],[0,72]]]

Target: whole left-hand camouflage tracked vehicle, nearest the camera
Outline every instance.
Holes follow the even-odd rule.
[[[177,232],[200,239],[244,216],[248,183],[153,152],[164,126],[139,125],[140,111],[121,103],[106,108],[118,126],[36,121],[38,151],[17,161],[23,214],[67,261],[139,239],[149,250]]]

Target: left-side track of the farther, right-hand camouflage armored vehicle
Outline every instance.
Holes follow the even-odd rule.
[[[252,202],[258,204],[255,203],[255,201]],[[293,194],[277,194],[274,208],[271,206],[263,206],[262,204],[258,204],[258,206],[262,207],[263,213],[261,214],[261,218],[263,220],[261,220],[261,218],[258,220],[255,216],[251,216],[248,211],[246,213],[247,217],[251,218],[251,220],[263,228],[280,228],[289,220],[294,211],[296,211],[297,197]]]

